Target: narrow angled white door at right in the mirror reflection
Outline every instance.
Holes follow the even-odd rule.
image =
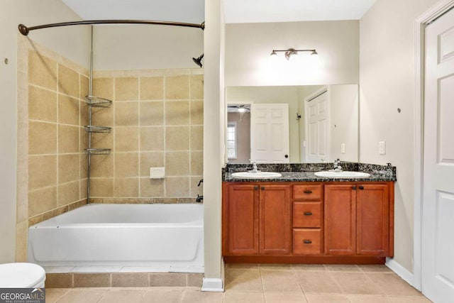
[[[324,89],[306,100],[306,160],[328,161],[329,155],[329,97]]]

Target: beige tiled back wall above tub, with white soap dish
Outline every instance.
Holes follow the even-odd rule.
[[[93,202],[195,202],[203,175],[202,70],[96,72],[93,94],[113,100],[94,109],[93,125],[111,133],[93,135]],[[150,180],[150,167],[165,178]]]

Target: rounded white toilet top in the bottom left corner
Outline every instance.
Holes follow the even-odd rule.
[[[0,264],[0,288],[44,288],[45,270],[33,263]]]

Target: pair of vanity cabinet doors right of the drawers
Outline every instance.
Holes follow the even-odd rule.
[[[392,256],[389,188],[384,183],[325,185],[327,255]]]

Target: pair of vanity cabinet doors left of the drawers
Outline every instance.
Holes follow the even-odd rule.
[[[289,184],[223,184],[223,255],[288,255],[292,250]]]

